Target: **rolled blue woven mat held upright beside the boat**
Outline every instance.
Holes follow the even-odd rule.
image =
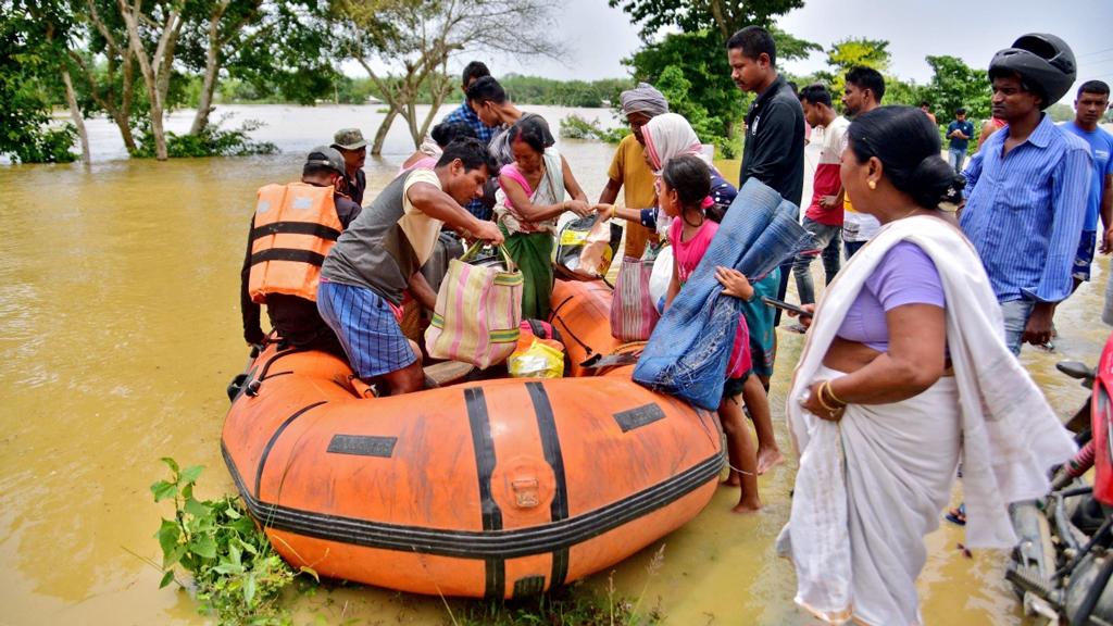
[[[806,250],[811,242],[797,222],[798,213],[795,204],[756,178],[746,182],[703,258],[650,335],[634,381],[703,409],[718,408],[742,302],[721,296],[715,268],[733,267],[757,282],[797,250]]]

